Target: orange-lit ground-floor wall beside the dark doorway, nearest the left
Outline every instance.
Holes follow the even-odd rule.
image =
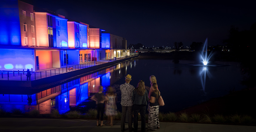
[[[38,51],[36,56],[39,56],[39,70],[52,68],[52,51]]]

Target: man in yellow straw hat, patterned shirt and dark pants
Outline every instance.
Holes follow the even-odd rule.
[[[125,77],[125,83],[120,85],[120,90],[121,90],[121,105],[122,105],[122,117],[121,117],[121,131],[125,131],[125,117],[126,117],[126,112],[128,112],[128,127],[129,127],[129,132],[133,131],[132,128],[132,112],[133,112],[133,101],[132,101],[132,90],[134,87],[129,84],[130,81],[132,80],[131,75],[127,75]]]

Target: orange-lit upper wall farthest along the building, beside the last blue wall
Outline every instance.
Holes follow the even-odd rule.
[[[99,28],[89,28],[89,48],[99,48],[99,33],[101,32]]]

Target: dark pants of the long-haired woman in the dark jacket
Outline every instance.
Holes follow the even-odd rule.
[[[134,116],[134,122],[133,122],[133,126],[134,126],[134,132],[138,131],[138,114],[140,113],[141,116],[141,132],[145,132],[146,131],[146,105],[137,105],[134,104],[133,105],[133,116]]]

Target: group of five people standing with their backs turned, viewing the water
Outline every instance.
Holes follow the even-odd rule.
[[[148,125],[149,131],[156,131],[159,129],[159,103],[160,92],[157,86],[157,79],[154,75],[150,76],[150,90],[149,93],[145,89],[143,80],[139,80],[136,88],[130,84],[132,80],[131,75],[125,77],[125,83],[120,85],[121,90],[121,105],[122,105],[122,116],[121,116],[121,131],[125,131],[125,120],[128,118],[129,132],[138,131],[138,115],[141,116],[141,131],[146,131],[146,108],[148,105]],[[102,93],[103,87],[99,87],[99,92],[96,93],[91,99],[96,101],[97,104],[97,126],[105,126],[103,124],[103,113],[104,105],[106,106],[105,114],[108,116],[108,123],[113,125],[113,118],[117,114],[117,94],[115,94],[112,87],[108,87],[106,96]],[[101,122],[99,124],[99,115],[101,114]],[[132,128],[132,118],[134,121],[134,128]]]

